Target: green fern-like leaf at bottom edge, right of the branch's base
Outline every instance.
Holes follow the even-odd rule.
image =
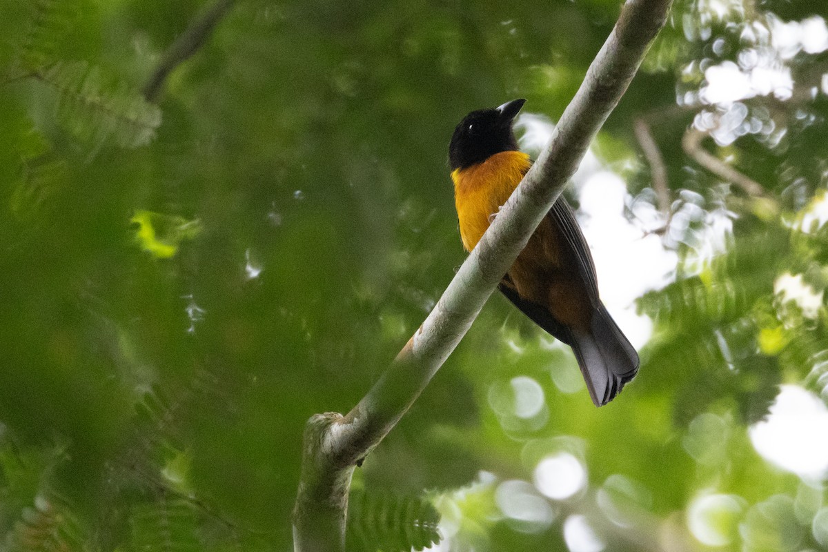
[[[352,490],[347,548],[353,552],[423,550],[440,541],[439,522],[440,514],[426,499]]]

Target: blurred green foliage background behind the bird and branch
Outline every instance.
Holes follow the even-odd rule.
[[[305,421],[465,257],[455,123],[556,120],[620,5],[238,0],[148,101],[209,7],[0,2],[0,550],[290,550]],[[596,410],[493,297],[357,471],[351,548],[828,550],[826,466],[751,437],[782,384],[828,401],[825,17],[676,0],[595,148],[675,259],[638,378]]]

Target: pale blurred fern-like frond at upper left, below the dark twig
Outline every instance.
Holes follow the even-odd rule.
[[[85,61],[58,61],[34,74],[58,94],[57,118],[75,136],[94,143],[143,146],[155,137],[161,111],[125,85],[103,83]]]

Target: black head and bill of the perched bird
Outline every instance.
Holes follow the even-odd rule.
[[[486,161],[500,151],[517,150],[512,121],[526,100],[513,99],[499,108],[473,111],[460,121],[449,144],[451,170]]]

